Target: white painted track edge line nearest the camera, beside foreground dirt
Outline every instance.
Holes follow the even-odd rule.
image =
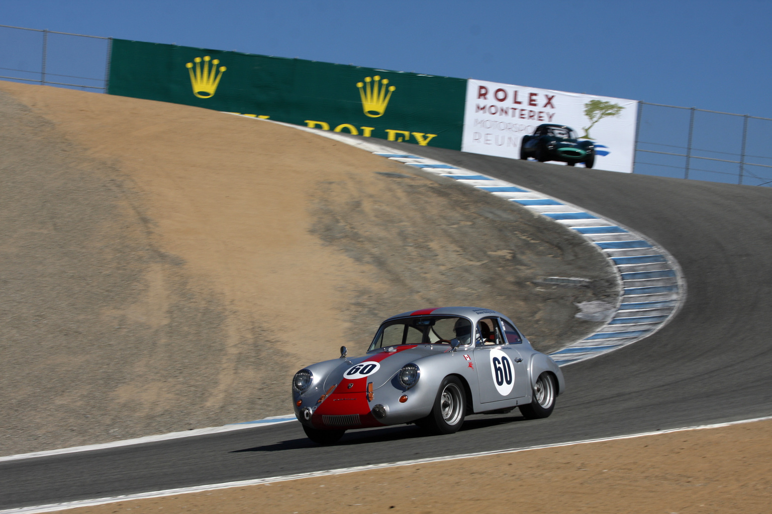
[[[153,491],[153,492],[139,492],[136,494],[110,496],[107,498],[100,498],[100,499],[88,499],[88,500],[78,500],[75,502],[52,503],[49,505],[42,505],[42,506],[20,507],[18,509],[0,510],[0,514],[35,514],[36,512],[56,512],[58,510],[76,509],[77,507],[97,506],[97,505],[104,505],[106,503],[115,503],[115,502],[127,502],[135,499],[161,498],[164,496],[189,494],[191,492],[213,491],[216,489],[231,489],[234,487],[245,487],[249,485],[261,485],[261,484],[271,484],[276,482],[287,482],[289,480],[310,479],[310,478],[319,477],[319,476],[345,475],[347,473],[371,471],[374,469],[397,468],[397,467],[406,466],[406,465],[428,464],[431,462],[445,462],[445,461],[452,461],[452,460],[459,460],[459,459],[472,459],[475,457],[484,457],[487,455],[502,455],[502,454],[509,454],[509,453],[528,452],[530,450],[539,450],[543,448],[560,448],[563,446],[586,445],[593,442],[620,441],[623,439],[647,437],[649,435],[662,435],[662,434],[672,434],[673,432],[689,432],[692,430],[723,428],[723,427],[729,427],[733,425],[744,425],[747,423],[763,422],[763,421],[769,421],[769,420],[772,420],[772,415],[764,416],[761,418],[741,419],[739,421],[734,421],[734,422],[713,423],[711,425],[694,425],[694,426],[682,427],[682,428],[668,428],[666,430],[659,430],[656,432],[638,432],[637,434],[615,435],[612,437],[582,439],[580,441],[571,441],[571,442],[557,442],[551,445],[525,446],[523,448],[508,448],[505,450],[493,450],[490,452],[462,453],[459,455],[449,455],[446,457],[432,457],[428,459],[413,459],[408,461],[386,462],[383,464],[361,465],[361,466],[355,466],[351,468],[329,469],[326,471],[298,473],[296,475],[272,476],[266,479],[239,480],[237,482],[222,482],[219,484],[195,485],[193,487],[181,487],[178,489],[164,489],[161,491]]]

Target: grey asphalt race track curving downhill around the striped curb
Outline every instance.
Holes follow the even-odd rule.
[[[388,144],[547,193],[644,233],[681,264],[685,306],[652,337],[564,368],[568,391],[547,419],[526,421],[516,411],[474,416],[461,432],[441,437],[412,426],[354,431],[333,447],[314,445],[293,422],[3,462],[0,509],[772,414],[772,189]]]

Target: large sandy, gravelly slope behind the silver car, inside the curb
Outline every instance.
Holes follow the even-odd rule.
[[[396,312],[492,307],[548,349],[615,300],[576,234],[289,127],[0,82],[0,142],[0,455],[284,414]]]

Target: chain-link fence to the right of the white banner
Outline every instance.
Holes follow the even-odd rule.
[[[635,173],[772,185],[772,119],[641,102]]]

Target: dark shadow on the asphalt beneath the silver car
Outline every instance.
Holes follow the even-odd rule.
[[[467,418],[464,425],[459,432],[469,432],[470,430],[480,430],[497,425],[506,425],[513,422],[525,421],[521,415],[495,415],[478,417],[475,415],[472,418]],[[424,438],[424,437],[439,437],[426,432],[422,428],[416,425],[397,425],[384,428],[369,428],[364,430],[353,430],[346,432],[343,438],[339,442],[330,446],[350,446],[350,445],[367,445],[378,442],[390,442],[405,439]],[[229,453],[241,453],[241,452],[284,452],[286,450],[296,450],[303,448],[318,448],[315,442],[311,442],[309,438],[296,438],[288,439],[287,441],[276,442],[272,445],[254,446],[252,448],[242,448],[240,450],[232,450]]]

